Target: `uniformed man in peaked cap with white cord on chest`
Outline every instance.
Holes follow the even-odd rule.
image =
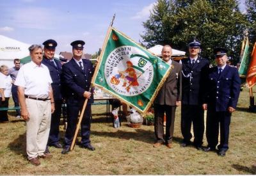
[[[181,147],[191,143],[191,124],[193,123],[194,143],[198,150],[202,150],[204,137],[204,109],[202,108],[202,90],[209,70],[209,61],[200,57],[201,44],[193,38],[188,44],[189,58],[182,60],[182,105],[181,132],[184,138]]]

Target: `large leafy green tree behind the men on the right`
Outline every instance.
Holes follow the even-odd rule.
[[[239,61],[246,17],[236,0],[159,0],[143,26],[147,47],[171,44],[188,51],[188,41],[195,36],[202,42],[203,57],[213,60],[213,49],[226,47]]]

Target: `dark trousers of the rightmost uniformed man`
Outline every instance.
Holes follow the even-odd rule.
[[[218,145],[219,126],[220,126],[220,145],[219,150],[228,150],[228,136],[231,113],[228,111],[215,111],[215,107],[208,106],[206,122],[206,138],[208,147],[216,148]],[[220,124],[220,125],[219,125]]]

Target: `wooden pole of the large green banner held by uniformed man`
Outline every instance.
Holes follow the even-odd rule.
[[[105,40],[104,40],[102,49],[103,49],[104,47],[106,47],[106,43],[107,43],[107,41],[108,41],[108,36],[109,36],[110,31],[111,31],[111,27],[112,27],[112,25],[113,25],[113,22],[114,22],[114,20],[115,20],[115,16],[116,16],[116,14],[114,14],[113,19],[111,20],[110,26],[109,26],[109,28],[108,28],[108,33],[107,33],[106,38],[105,38]],[[102,58],[102,52],[100,52],[99,61],[101,61],[101,58]],[[92,82],[91,82],[91,83],[94,83],[94,79],[95,79],[95,77],[97,76],[97,71],[98,71],[98,69],[99,69],[99,65],[100,65],[100,64],[97,64],[97,65],[96,65],[95,71],[94,71],[93,76],[92,76]],[[93,93],[93,92],[92,92],[92,93]],[[72,144],[71,144],[70,150],[73,150],[73,149],[74,149],[74,145],[75,145],[76,138],[77,138],[77,133],[78,133],[78,131],[79,131],[79,127],[80,127],[81,122],[82,122],[82,120],[83,120],[83,115],[84,115],[84,111],[85,111],[87,102],[88,102],[88,99],[85,99],[85,100],[84,100],[84,105],[83,105],[82,111],[81,111],[80,116],[79,116],[79,121],[78,121],[78,124],[77,124],[77,126],[76,126],[76,132],[75,132],[75,134],[74,134],[74,138],[73,138],[73,140],[72,140]]]

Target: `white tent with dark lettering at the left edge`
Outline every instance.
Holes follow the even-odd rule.
[[[7,65],[9,68],[13,67],[15,58],[22,59],[29,56],[29,46],[30,44],[0,35],[0,65]],[[55,57],[60,58],[60,55],[55,54]]]

